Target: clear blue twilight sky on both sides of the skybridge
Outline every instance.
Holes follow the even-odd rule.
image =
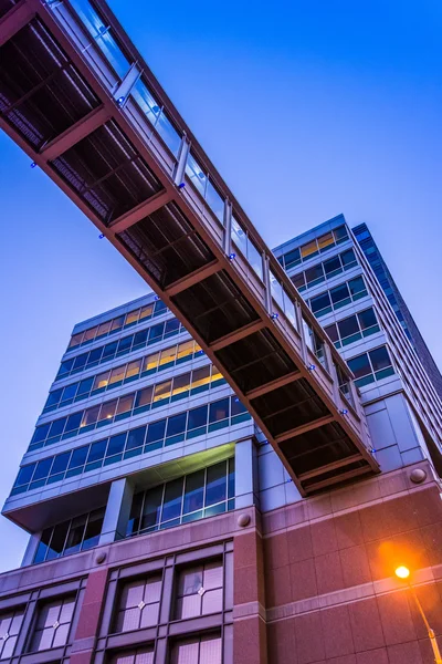
[[[110,7],[267,243],[366,221],[442,365],[440,1]],[[0,134],[1,502],[74,323],[146,290],[29,166]],[[27,539],[0,520],[0,570]]]

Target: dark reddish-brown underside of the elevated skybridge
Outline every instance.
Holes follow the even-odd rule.
[[[65,23],[36,0],[0,0],[1,127],[198,340],[303,495],[377,471],[360,411],[346,406],[336,375],[312,359],[302,324],[296,331],[277,310],[266,274],[262,283],[232,251],[228,197],[220,220],[192,187],[189,137],[173,156],[147,134],[130,81],[104,85],[93,49],[81,48],[78,17],[69,3],[64,10]],[[271,266],[297,298],[260,249],[264,271]],[[301,298],[296,308],[298,322],[312,320]]]

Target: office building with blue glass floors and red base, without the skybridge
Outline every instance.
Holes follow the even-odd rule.
[[[31,537],[0,575],[2,658],[431,661],[392,573],[414,570],[441,630],[434,390],[344,217],[275,253],[355,374],[382,474],[305,499],[156,295],[85,321],[3,509]]]

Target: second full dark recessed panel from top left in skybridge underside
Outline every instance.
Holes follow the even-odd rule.
[[[114,121],[76,143],[52,167],[106,224],[161,189]]]

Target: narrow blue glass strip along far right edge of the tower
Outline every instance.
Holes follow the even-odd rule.
[[[367,228],[367,224],[360,224],[352,229],[356,239],[359,242],[360,248],[375,274],[378,278],[383,292],[387,295],[400,324],[403,328],[404,333],[411,341],[414,351],[417,352],[419,360],[421,361],[424,370],[431,382],[434,385],[434,390],[438,392],[439,397],[442,400],[442,375],[438,369],[436,363],[431,355],[422,334],[419,331],[418,325],[414,322],[413,317],[407,307],[400,290],[398,289],[394,279],[391,276],[390,270],[386,261],[380,253],[378,246],[376,245],[371,232]]]

